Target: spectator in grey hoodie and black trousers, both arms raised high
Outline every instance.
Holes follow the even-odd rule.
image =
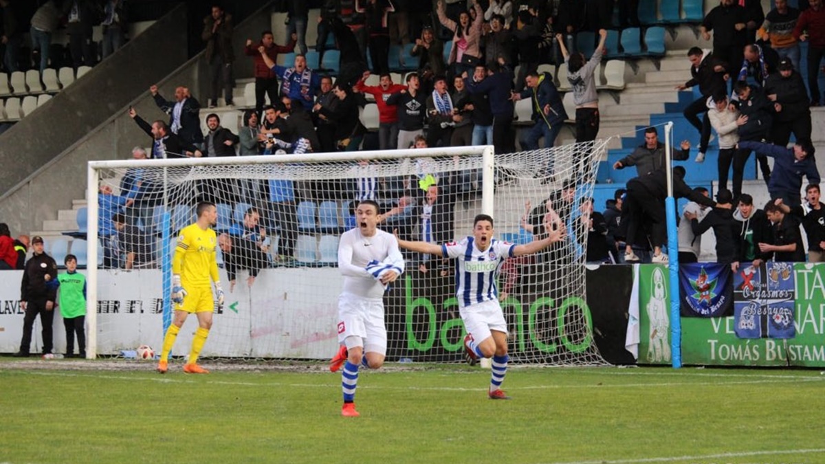
[[[564,46],[561,34],[556,36],[559,40],[559,47],[562,49],[564,62],[568,66],[568,81],[573,86],[573,102],[576,104],[576,143],[590,142],[596,140],[599,134],[599,97],[596,95],[596,81],[593,73],[601,63],[601,56],[604,54],[607,31],[599,31],[599,45],[592,57],[585,61],[581,53],[568,54]],[[577,170],[583,171],[582,163],[584,156],[579,160]]]

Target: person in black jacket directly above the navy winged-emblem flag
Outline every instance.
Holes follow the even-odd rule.
[[[689,211],[685,211],[685,219],[691,221],[691,229],[696,236],[705,234],[707,230],[713,228],[716,236],[716,262],[731,264],[733,269],[733,263],[737,258],[738,229],[731,210],[732,201],[733,193],[728,189],[719,190],[716,193],[716,206],[708,211],[701,222],[696,218],[695,213]]]

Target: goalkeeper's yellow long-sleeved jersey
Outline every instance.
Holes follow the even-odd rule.
[[[184,287],[210,286],[210,277],[218,282],[218,262],[215,260],[217,244],[214,230],[200,229],[197,223],[181,230],[172,259],[172,273],[181,275]]]

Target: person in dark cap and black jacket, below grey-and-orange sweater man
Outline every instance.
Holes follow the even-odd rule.
[[[770,140],[784,147],[790,140],[791,132],[796,140],[810,139],[813,130],[810,101],[802,75],[794,70],[790,59],[782,59],[779,73],[768,77],[765,93],[774,102],[776,111]]]

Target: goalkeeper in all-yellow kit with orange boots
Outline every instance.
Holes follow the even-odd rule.
[[[158,372],[162,374],[167,372],[169,352],[172,351],[177,334],[190,313],[197,316],[198,329],[195,331],[195,338],[192,339],[192,350],[183,372],[209,373],[197,365],[197,360],[212,327],[214,300],[210,279],[214,281],[218,307],[224,305],[224,291],[220,288],[218,263],[215,260],[217,237],[211,229],[218,220],[218,209],[214,203],[198,203],[197,217],[194,224],[187,225],[181,230],[177,237],[175,256],[172,258],[172,301],[175,303],[175,318],[163,338],[163,352],[158,362]]]

